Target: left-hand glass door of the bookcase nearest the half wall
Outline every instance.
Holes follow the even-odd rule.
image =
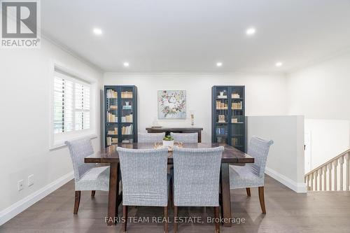
[[[216,87],[215,135],[217,143],[228,143],[228,87]]]

